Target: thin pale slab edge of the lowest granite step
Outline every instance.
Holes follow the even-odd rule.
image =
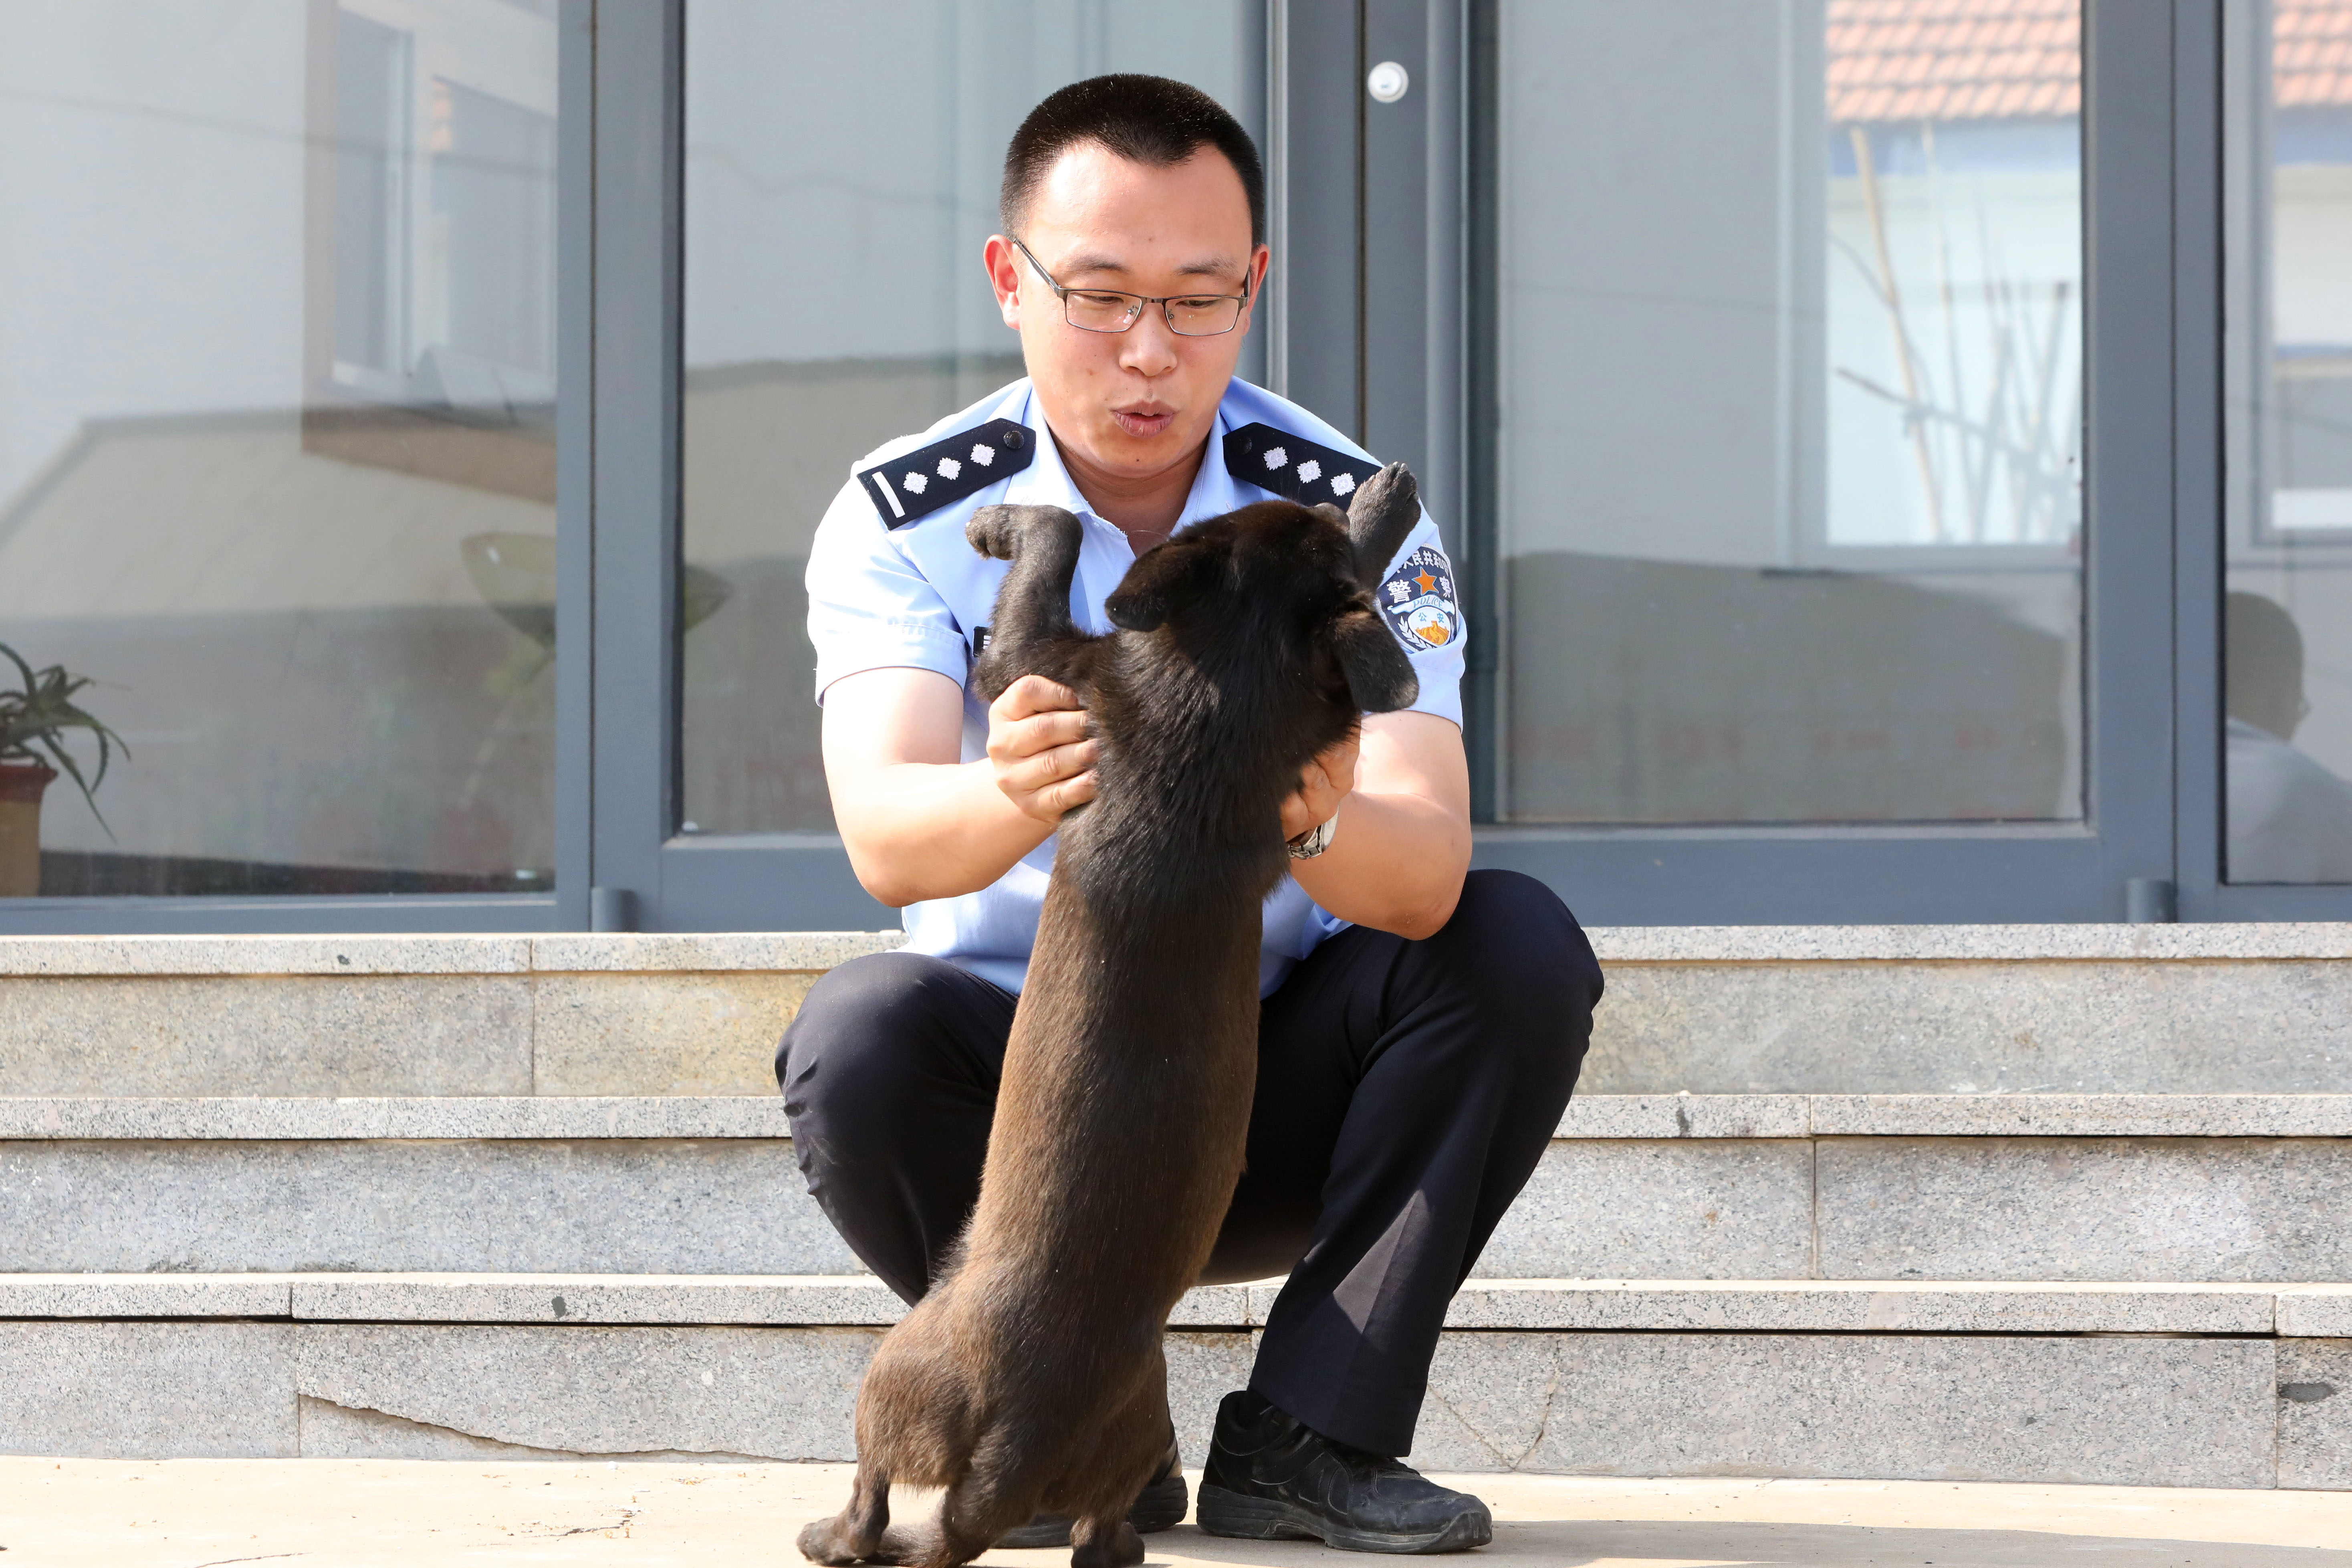
[[[1261,1328],[1282,1281],[1185,1293],[1176,1328]],[[866,1274],[0,1274],[0,1319],[884,1326]],[[1446,1328],[2352,1338],[2352,1284],[1472,1279]]]

